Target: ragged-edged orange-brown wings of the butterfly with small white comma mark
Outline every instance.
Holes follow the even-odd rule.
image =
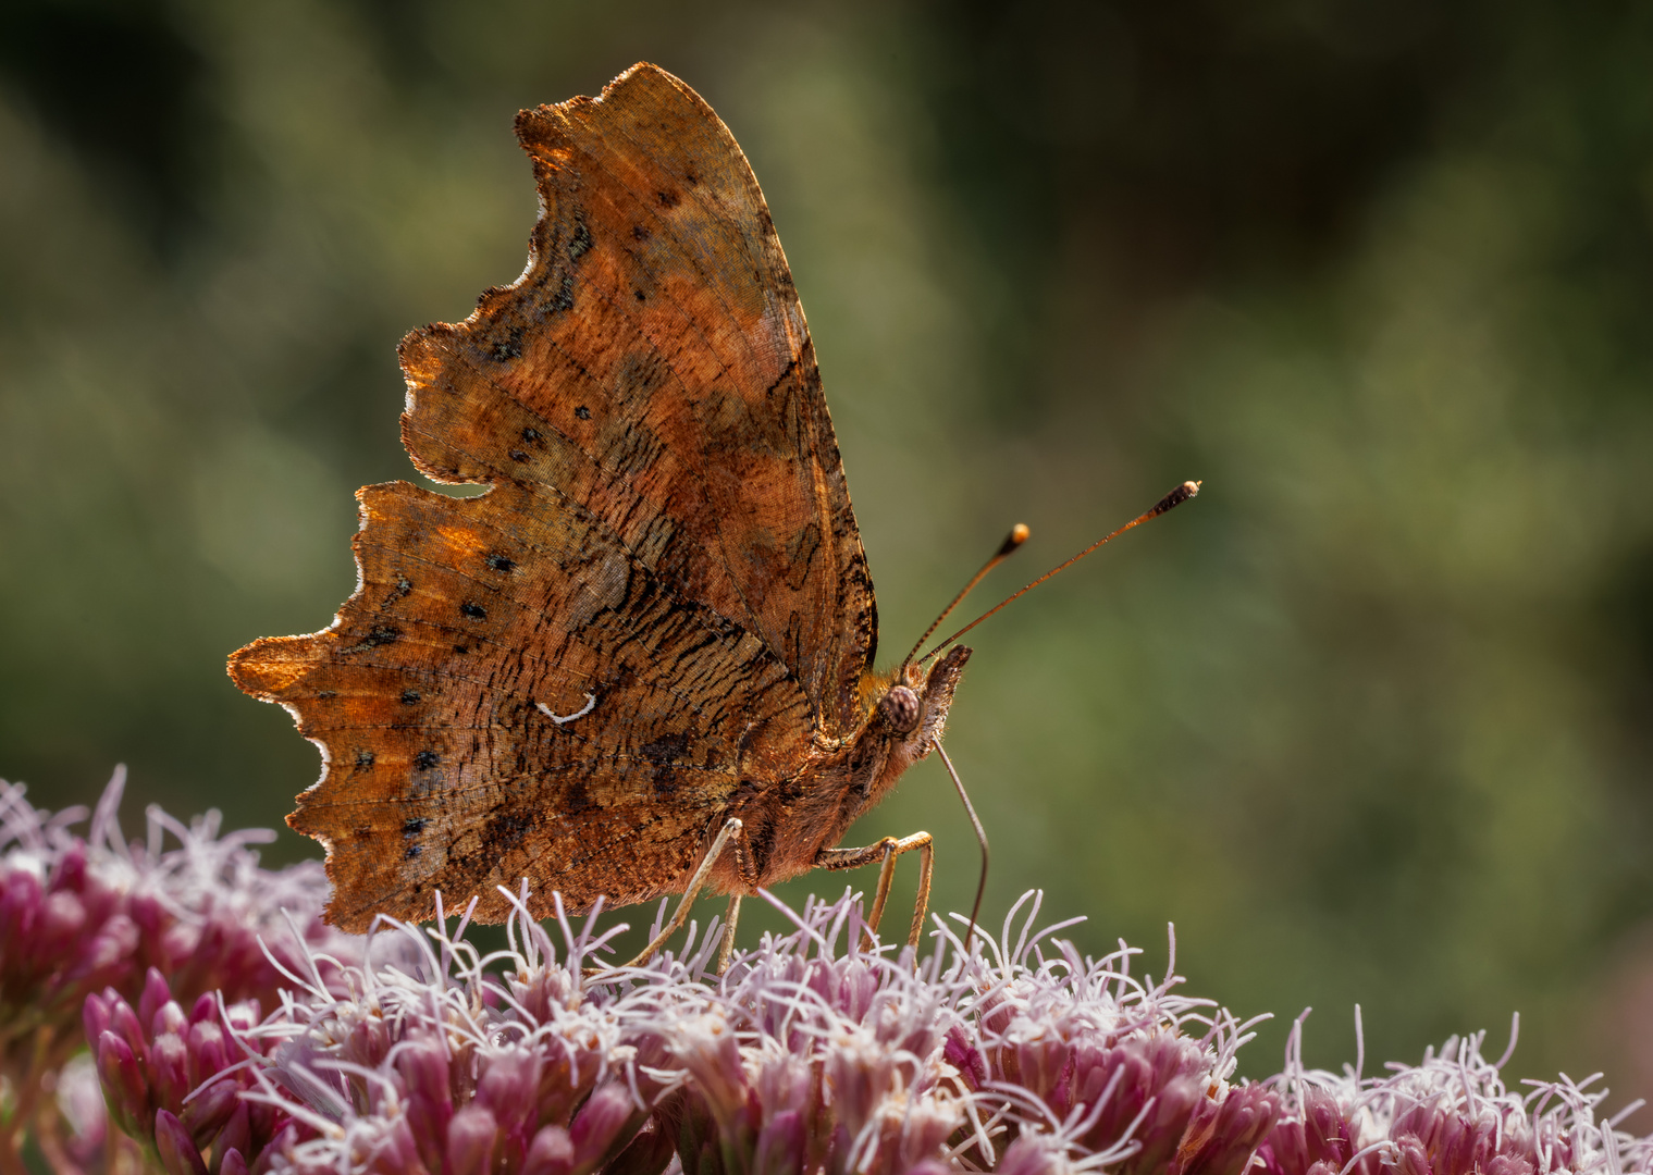
[[[289,823],[329,917],[431,891],[570,909],[681,889],[722,811],[858,722],[873,588],[757,180],[688,86],[635,66],[517,116],[527,269],[402,344],[402,438],[456,499],[359,492],[334,625],[231,656],[324,752]]]

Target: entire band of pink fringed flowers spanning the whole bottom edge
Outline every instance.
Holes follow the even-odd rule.
[[[122,846],[117,797],[81,840],[84,813],[0,792],[8,1064],[25,1039],[36,1073],[61,1064],[23,1116],[8,1071],[5,1120],[63,1172],[1653,1175],[1653,1140],[1600,1117],[1592,1082],[1506,1089],[1481,1036],[1367,1077],[1308,1071],[1299,1021],[1284,1073],[1236,1081],[1248,1023],[1182,995],[1174,965],[1078,955],[1036,929],[1036,894],[972,949],[937,922],[922,959],[858,945],[855,894],[779,907],[793,930],[717,975],[716,922],[615,967],[622,925],[547,932],[524,891],[483,955],[464,917],[334,935],[314,871],[263,873],[207,821],[152,811],[150,844]],[[15,1145],[0,1170],[21,1170]]]

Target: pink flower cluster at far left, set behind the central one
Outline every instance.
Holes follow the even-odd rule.
[[[269,1006],[288,982],[281,965],[304,965],[309,950],[359,957],[319,920],[327,889],[316,863],[263,869],[250,846],[271,833],[220,836],[217,813],[183,826],[154,806],[147,838],[127,843],[124,780],[117,770],[96,811],[56,815],[0,780],[0,1082],[8,1102],[0,1165],[18,1154],[23,1130],[48,1155],[66,1155],[64,1117],[83,1127],[71,1130],[83,1142],[101,1134],[98,1106],[73,1102],[84,1074],[60,1079],[88,1044],[88,997],[137,1001],[157,970],[183,1003],[222,992]]]

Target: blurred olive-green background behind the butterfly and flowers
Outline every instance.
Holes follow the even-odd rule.
[[[1516,1076],[1653,1094],[1645,3],[10,0],[0,775],[281,823],[316,752],[223,658],[413,476],[393,347],[519,273],[512,112],[645,58],[769,195],[888,656],[1010,522],[984,603],[1205,479],[979,630],[988,920],[1174,920],[1281,1013],[1253,1074],[1304,1005],[1369,1068],[1519,1008]],[[916,828],[967,907],[934,760],[855,836]]]

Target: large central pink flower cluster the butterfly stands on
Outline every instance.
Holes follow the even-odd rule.
[[[347,992],[312,982],[256,1028],[220,1018],[246,1041],[243,1104],[278,1112],[255,1163],[279,1170],[1240,1175],[1281,1101],[1228,1082],[1245,1026],[1175,995],[1169,973],[1132,977],[1134,952],[1094,962],[1056,944],[1046,957],[1036,909],[1012,911],[987,950],[941,935],[916,967],[855,945],[860,904],[845,894],[717,977],[716,924],[699,947],[691,932],[679,955],[615,968],[592,963],[622,927],[562,922],[557,950],[522,904],[494,957],[463,920],[451,935],[392,925],[413,950],[344,968]],[[154,1039],[182,1035],[172,1008]],[[228,1079],[174,1044],[213,1107],[190,1119],[162,1107],[177,1102],[165,1082],[117,1087],[104,1049],[127,1053],[112,1038],[99,1073],[121,1124],[142,1132],[154,1112],[170,1172],[240,1170],[246,1152],[213,1140]]]

